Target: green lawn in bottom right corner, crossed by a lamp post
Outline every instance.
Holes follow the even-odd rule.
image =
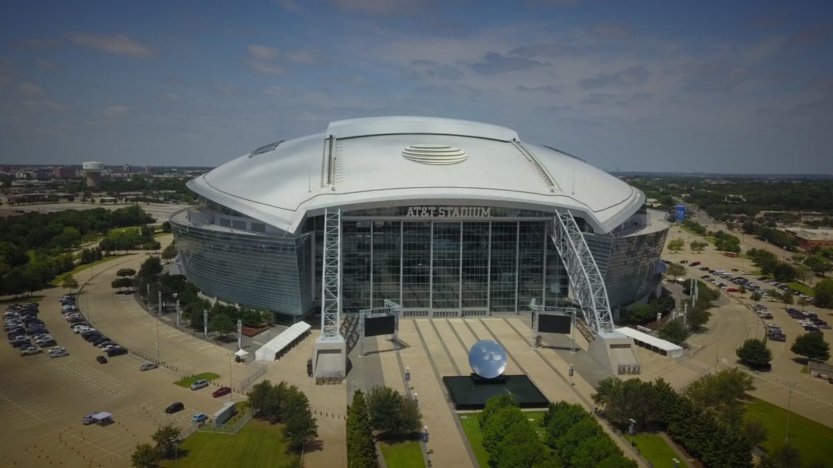
[[[769,437],[762,444],[762,449],[772,453],[784,443],[786,435],[787,411],[762,400],[755,400],[746,406],[746,419],[761,421]],[[833,429],[804,416],[793,413],[790,416],[790,443],[801,451],[804,465],[817,463],[825,466],[833,459]]]

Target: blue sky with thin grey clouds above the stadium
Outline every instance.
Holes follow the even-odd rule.
[[[426,115],[609,171],[833,173],[831,32],[829,1],[3,2],[0,162],[215,166]]]

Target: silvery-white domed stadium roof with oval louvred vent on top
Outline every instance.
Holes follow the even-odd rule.
[[[577,157],[521,143],[509,128],[436,117],[332,122],[326,132],[257,148],[188,183],[203,197],[287,232],[327,207],[392,202],[564,207],[596,232],[610,232],[645,200]]]

